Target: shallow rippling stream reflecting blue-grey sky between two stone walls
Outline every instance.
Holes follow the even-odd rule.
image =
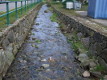
[[[3,80],[83,80],[74,65],[73,51],[52,12],[43,5],[28,40]]]

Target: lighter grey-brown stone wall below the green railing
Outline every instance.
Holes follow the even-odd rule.
[[[29,33],[41,5],[42,3],[39,3],[27,15],[0,32],[0,80],[2,80],[2,77],[14,60],[18,49]]]

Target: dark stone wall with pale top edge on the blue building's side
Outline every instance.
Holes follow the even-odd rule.
[[[80,38],[80,41],[88,49],[91,56],[95,56],[101,65],[107,67],[107,35],[99,30],[100,27],[95,29],[93,27],[94,23],[88,21],[84,23],[83,18],[69,17],[69,15],[58,11],[54,7],[52,8],[60,20],[67,25],[69,32],[72,33],[72,30],[77,32],[78,38]]]

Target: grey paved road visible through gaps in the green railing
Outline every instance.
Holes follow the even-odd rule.
[[[30,1],[28,1],[28,3],[30,3]],[[23,2],[23,5],[25,5],[25,2]],[[21,2],[18,2],[17,6],[20,7],[21,6]],[[12,10],[14,8],[15,8],[15,3],[14,2],[13,3],[9,3],[9,10]],[[0,4],[0,12],[6,12],[6,4]]]

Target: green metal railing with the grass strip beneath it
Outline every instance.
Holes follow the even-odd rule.
[[[28,10],[30,10],[41,0],[23,0],[23,1],[4,1],[0,2],[0,5],[6,7],[6,9],[0,13],[0,28],[3,26],[11,25],[19,17],[23,16]],[[13,5],[14,8],[10,9],[10,5]],[[19,6],[20,5],[20,6]]]

